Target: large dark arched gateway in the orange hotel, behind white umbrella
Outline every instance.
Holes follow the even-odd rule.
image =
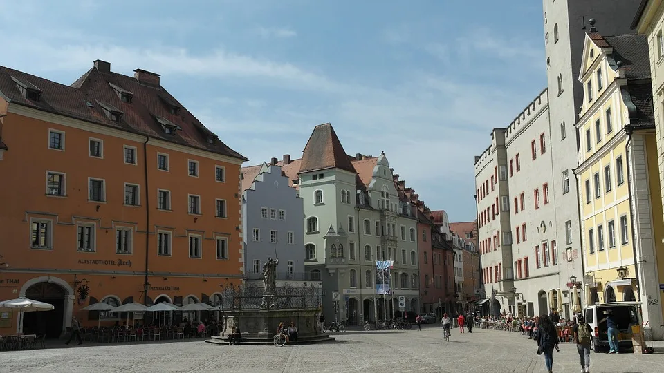
[[[56,283],[36,283],[26,289],[25,296],[52,304],[53,311],[24,313],[23,332],[45,335],[46,338],[59,338],[66,328],[64,323],[65,305],[68,300],[66,289]]]

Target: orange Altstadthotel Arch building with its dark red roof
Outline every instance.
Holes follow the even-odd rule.
[[[246,158],[135,73],[98,60],[65,86],[0,67],[0,300],[55,305],[26,334],[114,320],[80,311],[98,301],[216,303],[242,281]],[[0,334],[17,329],[0,313]]]

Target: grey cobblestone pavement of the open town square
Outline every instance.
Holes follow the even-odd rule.
[[[0,372],[544,372],[535,342],[519,333],[417,330],[349,331],[323,345],[217,346],[203,341],[55,345],[0,352]],[[658,343],[656,347],[664,345]],[[591,372],[664,372],[664,348],[652,355],[591,353]],[[575,345],[554,352],[554,372],[580,372]]]

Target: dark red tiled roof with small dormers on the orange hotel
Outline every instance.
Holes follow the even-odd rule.
[[[12,79],[13,78],[13,79]],[[17,80],[20,82],[17,82]],[[26,99],[19,86],[35,86],[42,91],[39,101]],[[133,93],[131,103],[124,103],[117,93]],[[0,95],[4,95],[12,104],[36,108],[49,113],[73,117],[86,122],[118,128],[124,131],[155,137],[167,142],[226,155],[239,160],[247,160],[230,149],[221,140],[208,143],[208,137],[216,138],[205,128],[192,113],[179,105],[178,115],[170,113],[160,96],[177,102],[161,86],[149,86],[139,83],[136,77],[118,73],[101,73],[91,68],[71,86],[65,86],[50,80],[29,75],[21,71],[0,66]],[[114,122],[104,112],[104,106],[122,113],[120,122]],[[179,128],[174,135],[167,135],[157,121],[167,119]]]

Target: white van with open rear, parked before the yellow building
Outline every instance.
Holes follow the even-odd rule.
[[[595,352],[609,350],[606,321],[609,313],[613,314],[618,324],[618,349],[633,350],[631,327],[642,324],[638,302],[596,303],[583,309],[585,321],[593,329],[593,350]]]

